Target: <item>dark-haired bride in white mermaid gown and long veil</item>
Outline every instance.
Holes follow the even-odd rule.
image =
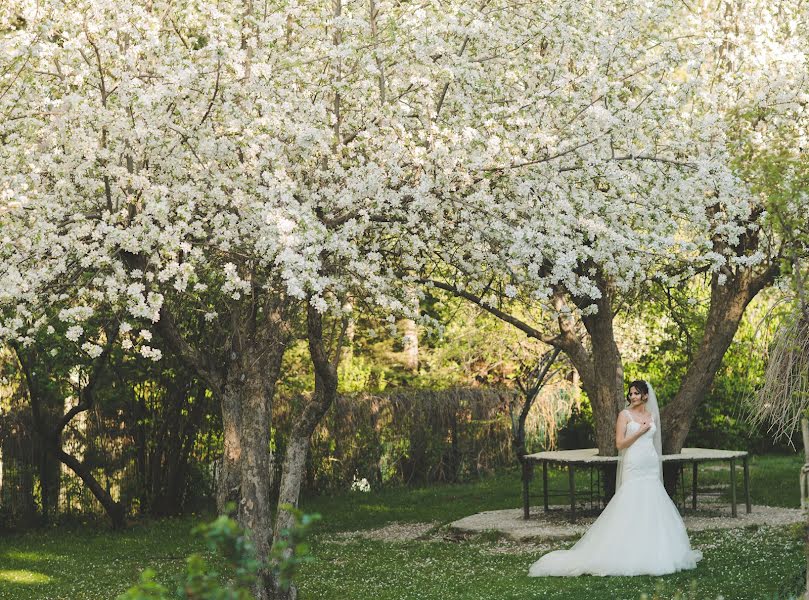
[[[529,576],[664,575],[693,569],[702,558],[691,549],[663,487],[660,411],[652,386],[633,381],[627,401],[615,425],[615,496],[570,550],[546,554],[531,565]]]

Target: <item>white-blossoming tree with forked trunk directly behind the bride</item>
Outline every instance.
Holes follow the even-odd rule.
[[[497,202],[469,210],[485,214],[489,229],[453,223],[444,239],[454,247],[425,277],[563,349],[593,402],[605,454],[615,451],[623,406],[614,316],[643,302],[649,281],[677,286],[709,274],[704,335],[663,411],[666,450],[678,452],[745,307],[778,274],[783,247],[767,228],[773,186],[761,156],[805,147],[799,5],[655,6],[604,7],[589,29],[586,14],[576,17],[590,52],[543,63],[555,93],[526,103],[542,106],[543,133],[562,149],[488,167],[483,185]],[[621,23],[632,34],[613,47],[603,31]],[[555,327],[524,318],[542,303]]]

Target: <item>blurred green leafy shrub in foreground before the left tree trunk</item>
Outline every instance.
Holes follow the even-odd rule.
[[[293,526],[285,529],[270,551],[270,569],[279,586],[287,590],[301,565],[309,562],[306,538],[319,519],[284,505],[294,517]],[[192,533],[202,537],[209,551],[221,556],[224,569],[209,564],[201,554],[192,554],[186,560],[186,571],[178,578],[175,591],[155,581],[155,571],[147,569],[140,582],[118,600],[252,600],[252,588],[263,568],[256,558],[255,548],[236,521],[220,516],[211,523],[198,525]]]

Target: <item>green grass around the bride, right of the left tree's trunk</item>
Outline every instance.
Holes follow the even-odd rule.
[[[700,467],[700,486],[729,484],[727,468],[709,463]],[[751,500],[754,504],[796,508],[800,504],[798,455],[752,457]],[[532,504],[541,503],[541,473],[531,484]],[[578,473],[581,489],[589,476]],[[686,485],[689,485],[688,476]],[[549,487],[564,490],[567,471],[551,469]],[[690,488],[689,488],[690,489]],[[705,532],[691,536],[705,558],[694,571],[666,577],[526,576],[528,566],[550,549],[504,543],[482,535],[472,541],[378,542],[359,538],[333,539],[337,531],[374,529],[392,522],[434,522],[436,527],[482,510],[521,505],[518,471],[509,471],[472,483],[418,489],[383,489],[369,494],[351,493],[314,498],[304,503],[323,515],[323,527],[313,544],[316,562],[299,578],[301,598],[344,600],[473,600],[531,599],[637,600],[642,593],[672,598],[678,592],[689,600],[761,600],[787,598],[801,585],[803,538],[794,528],[748,528]],[[742,495],[742,470],[737,469],[737,500]],[[723,492],[729,497],[729,491]],[[564,503],[564,498],[556,498]],[[744,510],[743,507],[740,510]]]

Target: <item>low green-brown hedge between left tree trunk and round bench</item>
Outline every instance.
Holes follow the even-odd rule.
[[[459,481],[514,461],[509,390],[396,389],[337,399],[311,440],[312,488]]]

